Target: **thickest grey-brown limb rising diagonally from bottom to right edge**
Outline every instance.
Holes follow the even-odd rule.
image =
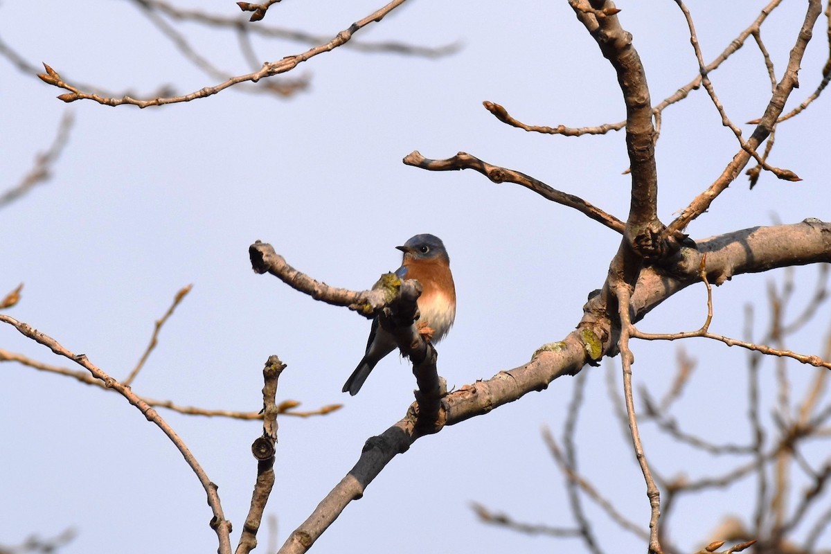
[[[780,248],[787,241],[793,247]],[[699,243],[707,254],[708,276],[720,283],[740,273],[766,271],[813,262],[831,262],[831,223],[806,220],[794,225],[752,228],[728,233]],[[701,252],[683,248],[671,271],[647,267],[632,292],[632,322],[637,322],[676,292],[700,279]],[[578,330],[563,341],[538,349],[529,363],[512,370],[500,371],[489,380],[476,381],[446,395],[440,402],[439,425],[429,432],[438,432],[442,425],[458,424],[465,419],[488,414],[504,404],[519,400],[532,391],[541,391],[563,375],[575,375],[602,355],[617,353],[617,331],[612,326],[601,295],[592,297],[584,308]],[[384,433],[366,441],[355,466],[323,498],[312,514],[288,537],[279,552],[307,552],[327,527],[352,501],[361,498],[366,487],[399,453],[404,453],[425,430],[419,429],[418,408],[411,405],[404,419]],[[751,469],[755,462],[751,463]]]

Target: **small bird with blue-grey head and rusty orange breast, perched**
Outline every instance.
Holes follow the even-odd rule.
[[[456,316],[456,288],[445,245],[434,235],[420,234],[408,240],[404,246],[396,248],[404,252],[404,259],[401,267],[396,270],[396,275],[402,280],[416,279],[421,283],[422,291],[418,298],[420,332],[430,341],[438,342],[450,330]],[[369,341],[366,342],[366,354],[352,375],[349,375],[343,385],[343,392],[356,395],[372,368],[394,350],[395,339],[378,324],[376,317],[372,321]]]

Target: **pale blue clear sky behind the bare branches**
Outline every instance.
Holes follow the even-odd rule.
[[[238,13],[234,2],[177,2],[187,4]],[[717,4],[690,4],[707,61],[762,7]],[[377,7],[365,0],[287,0],[273,6],[263,23],[334,36]],[[697,65],[675,2],[619,7],[646,66],[653,103],[691,81]],[[781,7],[763,27],[777,76],[803,10],[801,4]],[[825,22],[821,18],[815,30],[802,88],[789,106],[819,83],[828,55]],[[250,71],[233,33],[193,25],[185,30],[216,65]],[[31,63],[46,61],[67,79],[111,91],[142,95],[170,84],[185,93],[217,82],[190,66],[133,2],[45,2],[37,8],[3,2],[0,37]],[[300,400],[306,409],[346,404],[327,417],[279,421],[277,485],[267,513],[279,519],[281,544],[352,468],[366,438],[403,416],[415,381],[406,361],[390,356],[360,395],[343,395],[369,322],[255,275],[250,243],[272,243],[294,267],[328,284],[364,289],[398,267],[396,245],[416,233],[438,235],[450,252],[459,298],[455,327],[439,347],[440,374],[458,387],[521,365],[538,346],[572,331],[588,292],[602,285],[618,237],[516,185],[495,185],[472,171],[429,173],[401,164],[401,158],[412,150],[428,158],[464,150],[582,196],[619,218],[628,210],[622,134],[575,139],[525,133],[499,123],[481,105],[498,102],[535,125],[623,119],[614,71],[568,2],[411,2],[355,40],[460,42],[463,48],[440,60],[341,48],[298,67],[297,76],[309,76],[311,86],[285,101],[228,90],[146,110],[76,102],[76,124],[53,179],[0,211],[0,295],[25,282],[22,301],[9,315],[86,353],[113,376],[127,375],[153,322],[180,287],[193,283],[135,380],[138,394],[256,410],[263,362],[277,354],[288,364],[279,399]],[[307,49],[293,42],[254,44],[263,61]],[[60,91],[2,58],[0,75],[5,190],[50,143],[66,106],[55,100]],[[755,44],[748,42],[712,80],[748,135],[752,126],[744,122],[758,117],[770,96]],[[793,169],[802,182],[765,174],[750,191],[739,179],[691,224],[691,236],[776,218],[829,220],[829,118],[828,99],[821,97],[804,116],[779,127],[770,162]],[[657,145],[661,218],[670,221],[737,150],[703,90],[666,110]],[[816,272],[795,272],[805,295]],[[782,275],[740,276],[717,289],[711,330],[742,336],[743,306],[755,302],[766,314],[765,283]],[[691,287],[642,328],[696,329],[706,315],[704,300],[703,287]],[[819,353],[829,319],[824,306],[816,327],[790,346]],[[636,383],[661,395],[676,345],[632,346]],[[0,347],[69,365],[7,326],[0,327]],[[714,442],[746,442],[745,352],[701,340],[687,342],[686,350],[699,363],[676,417]],[[68,554],[214,552],[204,492],[175,448],[137,410],[118,395],[57,375],[12,364],[0,370],[0,544],[74,527],[78,537]],[[642,476],[612,414],[604,370],[587,370],[580,467],[647,528]],[[766,363],[765,375],[772,370]],[[805,379],[814,371],[793,368]],[[773,394],[773,384],[771,377],[765,394]],[[555,381],[540,394],[417,441],[347,508],[314,552],[583,552],[576,541],[483,526],[469,509],[475,501],[527,522],[572,525],[563,476],[540,436],[543,425],[560,433],[572,387],[571,379]],[[256,471],[249,445],[261,426],[162,415],[219,484],[225,514],[241,529]],[[647,455],[665,475],[686,468],[694,477],[735,463],[696,458],[652,428],[643,433]],[[753,483],[745,481],[729,494],[682,503],[671,536],[682,547],[698,547],[725,513],[747,511],[752,491]],[[594,507],[588,511],[608,552],[642,552],[641,540],[618,531]],[[264,531],[261,537],[264,547]],[[831,544],[828,532],[824,544]]]

